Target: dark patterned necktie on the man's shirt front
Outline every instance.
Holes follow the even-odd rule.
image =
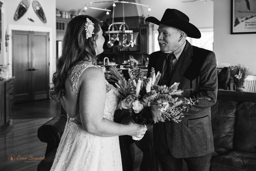
[[[173,72],[173,59],[175,58],[175,55],[173,53],[170,53],[170,55],[167,57],[167,68],[165,70],[163,79],[162,79],[162,85],[169,86],[170,78],[172,76]]]

